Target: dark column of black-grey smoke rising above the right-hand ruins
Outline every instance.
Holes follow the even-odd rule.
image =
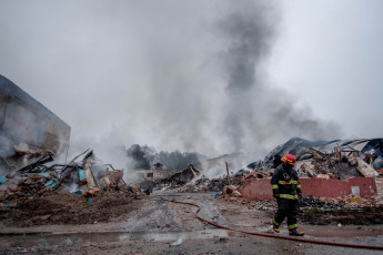
[[[231,6],[216,26],[225,45],[219,54],[228,95],[224,131],[234,150],[251,142],[268,147],[291,136],[339,135],[336,124],[314,119],[310,109],[298,106],[294,95],[276,90],[268,80],[265,64],[278,40],[279,8],[273,1],[241,3]]]

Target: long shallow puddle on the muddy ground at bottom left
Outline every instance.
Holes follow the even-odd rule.
[[[232,235],[232,234],[231,234]],[[127,233],[127,232],[103,232],[103,233],[71,233],[71,234],[33,234],[33,235],[2,235],[0,247],[51,247],[58,245],[74,245],[84,243],[108,243],[123,241],[183,241],[202,239],[213,237],[228,237],[225,230],[204,230],[193,232],[167,232],[167,233]]]

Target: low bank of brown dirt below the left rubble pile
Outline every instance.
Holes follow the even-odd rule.
[[[83,197],[77,194],[50,194],[44,197],[18,200],[14,207],[0,210],[4,226],[39,226],[47,224],[92,224],[115,221],[134,210],[137,195],[133,190],[108,191],[100,196]],[[112,208],[112,210],[111,210]]]

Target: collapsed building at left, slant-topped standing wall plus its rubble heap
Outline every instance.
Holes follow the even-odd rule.
[[[122,170],[95,164],[92,151],[87,150],[68,164],[53,164],[53,157],[68,152],[70,131],[60,118],[0,75],[1,204],[51,192],[85,197],[111,188],[140,193],[123,182]],[[75,162],[83,154],[82,162]]]

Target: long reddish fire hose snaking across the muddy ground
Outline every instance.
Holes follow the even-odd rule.
[[[162,198],[164,200],[164,198]],[[263,236],[263,237],[273,237],[273,238],[280,238],[280,239],[291,239],[291,241],[298,241],[301,243],[312,243],[312,244],[322,244],[322,245],[333,245],[333,246],[343,246],[343,247],[352,247],[352,248],[369,248],[369,249],[382,249],[383,246],[371,246],[371,245],[359,245],[359,244],[347,244],[347,243],[335,243],[335,242],[325,242],[325,241],[316,241],[316,239],[306,239],[306,238],[298,238],[298,237],[290,237],[290,236],[281,236],[281,235],[272,235],[272,234],[263,234],[263,233],[255,233],[255,232],[246,232],[246,231],[240,231],[240,230],[234,230],[231,227],[226,226],[221,226],[214,222],[210,222],[201,216],[198,215],[198,213],[201,211],[201,207],[194,203],[191,202],[183,202],[183,201],[175,201],[175,200],[164,200],[168,202],[172,203],[178,203],[178,204],[187,204],[187,205],[192,205],[198,207],[195,212],[195,217],[200,220],[201,222],[208,223],[210,225],[213,225],[215,227],[226,230],[226,231],[234,231],[243,234],[249,234],[249,235],[256,235],[256,236]]]

